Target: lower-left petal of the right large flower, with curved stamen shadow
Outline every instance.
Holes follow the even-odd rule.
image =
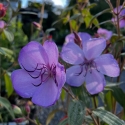
[[[66,70],[66,82],[71,86],[81,86],[85,81],[85,74],[83,66],[72,66]]]

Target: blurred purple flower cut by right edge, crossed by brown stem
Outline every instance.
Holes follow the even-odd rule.
[[[125,27],[125,9],[122,8],[122,6],[114,9],[115,14],[119,14],[119,27],[124,28]],[[117,25],[117,18],[112,18],[112,22]]]

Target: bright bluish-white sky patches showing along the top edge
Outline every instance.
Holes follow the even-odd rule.
[[[40,2],[41,0],[32,0],[32,1],[37,1]],[[55,5],[61,5],[61,6],[65,6],[66,4],[66,0],[52,0],[54,2]],[[27,5],[28,0],[22,0],[23,2],[23,7],[25,7]]]

